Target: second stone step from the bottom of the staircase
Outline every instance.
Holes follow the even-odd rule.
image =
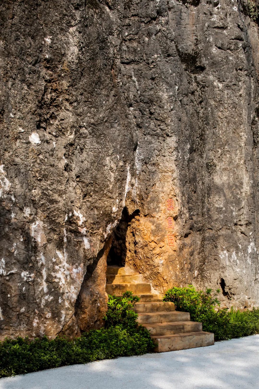
[[[188,332],[201,332],[202,323],[195,321],[176,321],[172,323],[143,324],[150,335],[174,335]]]

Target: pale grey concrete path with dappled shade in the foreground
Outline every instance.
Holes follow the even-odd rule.
[[[1,378],[1,389],[259,388],[259,335]]]

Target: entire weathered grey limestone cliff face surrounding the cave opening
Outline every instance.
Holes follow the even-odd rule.
[[[2,2],[1,338],[101,326],[107,256],[157,291],[193,283],[259,304],[259,33],[246,9]]]

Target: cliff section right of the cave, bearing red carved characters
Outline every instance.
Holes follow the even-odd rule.
[[[143,4],[143,3],[141,3]],[[122,78],[138,133],[126,263],[162,293],[258,303],[258,27],[241,4],[125,7]],[[257,71],[257,72],[256,72]],[[129,199],[131,200],[131,199]]]

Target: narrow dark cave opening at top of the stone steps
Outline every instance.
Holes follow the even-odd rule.
[[[126,237],[129,224],[135,216],[139,215],[139,209],[129,215],[126,207],[122,210],[120,223],[112,233],[111,249],[107,256],[108,266],[125,266],[127,255]]]

